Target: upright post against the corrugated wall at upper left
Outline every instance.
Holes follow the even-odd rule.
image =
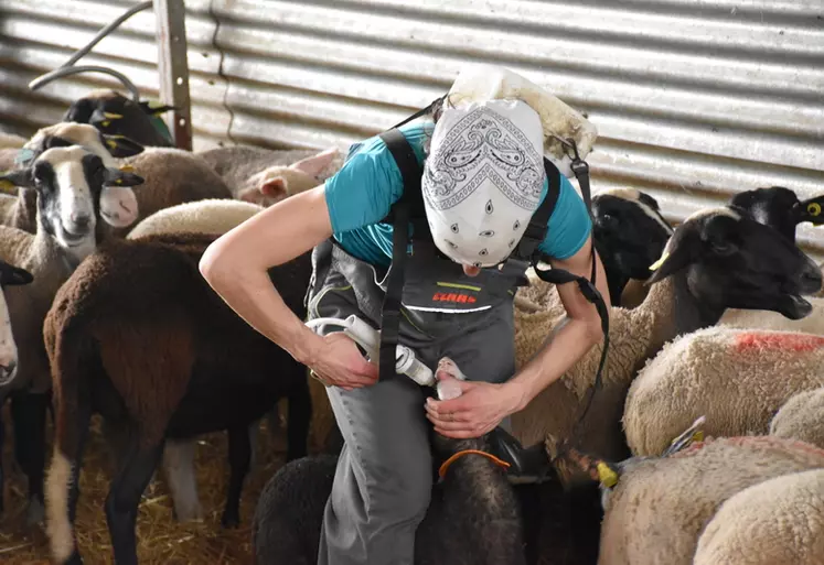
[[[183,0],[153,0],[158,21],[160,101],[174,106],[165,120],[179,149],[192,150],[192,101],[189,96],[185,6]]]

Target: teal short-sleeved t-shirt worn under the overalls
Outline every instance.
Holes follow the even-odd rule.
[[[421,164],[426,160],[424,148],[434,128],[431,122],[399,128]],[[346,162],[327,180],[324,189],[334,239],[352,256],[374,265],[388,267],[392,226],[378,222],[400,198],[404,182],[386,143],[375,135],[352,145]],[[545,181],[542,202],[547,189]],[[558,202],[547,225],[549,229],[538,249],[555,259],[577,253],[591,231],[587,207],[564,175],[560,175]]]

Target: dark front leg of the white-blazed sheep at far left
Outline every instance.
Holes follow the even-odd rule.
[[[45,469],[45,419],[49,394],[17,394],[11,399],[14,422],[14,453],[29,479],[26,523],[43,521],[43,476]]]

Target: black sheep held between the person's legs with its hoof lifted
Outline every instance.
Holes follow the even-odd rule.
[[[447,358],[441,368],[453,374],[457,370]],[[510,485],[501,468],[506,464],[478,454],[490,454],[489,436],[451,439],[431,432],[431,444],[442,481],[434,481],[416,532],[416,565],[525,565],[526,554],[532,554],[529,563],[537,557],[542,565],[595,559],[600,512],[563,520],[559,514],[569,513],[572,497],[557,483],[544,483],[537,492],[532,486]],[[255,563],[315,563],[336,465],[329,454],[306,457],[281,467],[267,482],[253,520]],[[535,515],[524,515],[528,509]],[[532,529],[525,528],[527,519]]]

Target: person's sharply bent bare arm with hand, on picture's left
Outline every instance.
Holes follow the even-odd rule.
[[[214,241],[200,261],[208,284],[252,327],[332,384],[371,384],[377,377],[347,337],[318,336],[272,286],[268,269],[332,235],[323,185],[286,198]]]

